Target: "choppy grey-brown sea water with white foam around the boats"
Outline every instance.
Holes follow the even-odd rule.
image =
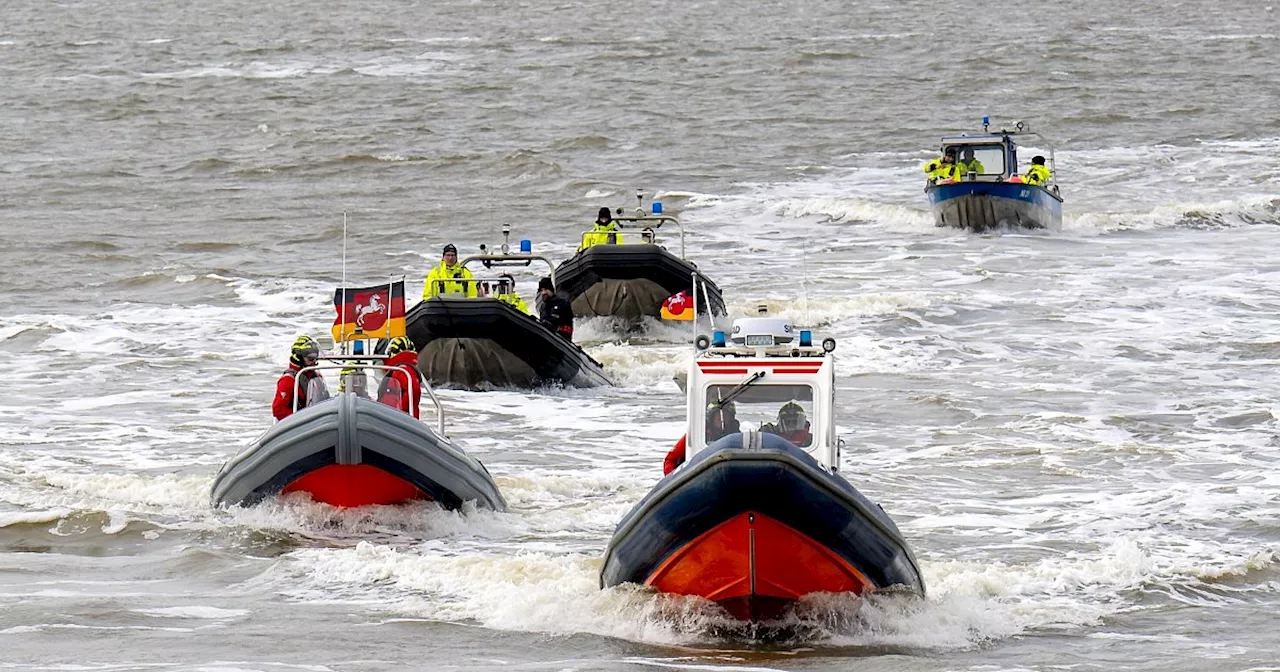
[[[1280,668],[1280,20],[998,12],[8,3],[0,667]],[[983,114],[1055,145],[1061,233],[933,228],[919,165]],[[344,216],[346,276],[413,292],[636,188],[735,314],[840,340],[842,472],[927,599],[762,636],[596,588],[682,431],[664,325],[579,325],[616,388],[442,392],[507,513],[209,506]]]

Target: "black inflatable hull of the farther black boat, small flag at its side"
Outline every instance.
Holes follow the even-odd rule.
[[[596,244],[556,269],[556,288],[579,317],[658,317],[667,297],[689,291],[698,269],[657,244]],[[704,293],[705,291],[705,293]],[[719,287],[701,276],[698,312],[726,315]]]

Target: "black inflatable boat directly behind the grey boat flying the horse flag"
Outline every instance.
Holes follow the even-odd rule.
[[[554,284],[553,264],[532,253],[530,241],[511,251],[511,228],[503,227],[499,252],[461,261],[486,270],[547,265]],[[508,278],[484,273],[472,282],[499,288]],[[497,289],[495,289],[497,293]],[[573,387],[611,385],[600,362],[571,339],[517,307],[493,296],[439,294],[419,302],[406,315],[406,330],[419,351],[419,369],[434,385],[457,388],[535,388],[548,383]]]

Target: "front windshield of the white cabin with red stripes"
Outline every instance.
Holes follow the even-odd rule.
[[[756,430],[777,434],[805,448],[813,444],[812,419],[810,385],[740,384],[707,389],[708,444],[736,431]]]

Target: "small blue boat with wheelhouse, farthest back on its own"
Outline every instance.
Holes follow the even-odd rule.
[[[1062,228],[1062,196],[1056,177],[1044,184],[1027,184],[1019,173],[1018,145],[1024,138],[1038,138],[1023,122],[1012,131],[989,132],[989,119],[983,118],[982,133],[942,138],[941,154],[954,152],[979,161],[982,172],[961,173],[955,180],[929,180],[924,193],[929,197],[933,219],[938,227],[972,232],[998,228],[1060,230]],[[1052,147],[1048,169],[1056,175]]]

